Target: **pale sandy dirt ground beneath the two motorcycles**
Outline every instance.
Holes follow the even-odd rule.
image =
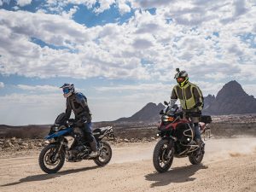
[[[256,138],[211,139],[199,166],[174,159],[166,173],[152,163],[155,143],[113,146],[113,159],[99,167],[93,161],[65,163],[45,174],[37,155],[0,160],[0,191],[256,191]]]

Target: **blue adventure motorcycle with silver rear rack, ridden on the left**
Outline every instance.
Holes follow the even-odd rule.
[[[81,131],[81,122],[75,119],[66,119],[61,113],[50,127],[49,135],[45,137],[46,145],[39,154],[39,166],[46,173],[55,173],[61,170],[65,160],[78,162],[81,160],[94,160],[98,166],[106,166],[112,158],[112,148],[109,143],[102,141],[104,137],[114,139],[111,126],[98,128],[93,131],[96,138],[98,156],[90,158],[90,144],[84,142],[84,132]],[[71,158],[72,157],[72,158]],[[72,160],[71,160],[72,159]]]

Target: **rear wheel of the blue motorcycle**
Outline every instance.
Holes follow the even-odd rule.
[[[100,145],[100,155],[96,157],[94,162],[98,166],[106,166],[112,158],[112,148],[107,142],[101,142]]]

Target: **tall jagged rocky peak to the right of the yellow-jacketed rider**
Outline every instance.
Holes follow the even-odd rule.
[[[256,99],[249,96],[236,80],[224,84],[216,97],[205,97],[203,113],[208,114],[244,114],[256,113]]]

